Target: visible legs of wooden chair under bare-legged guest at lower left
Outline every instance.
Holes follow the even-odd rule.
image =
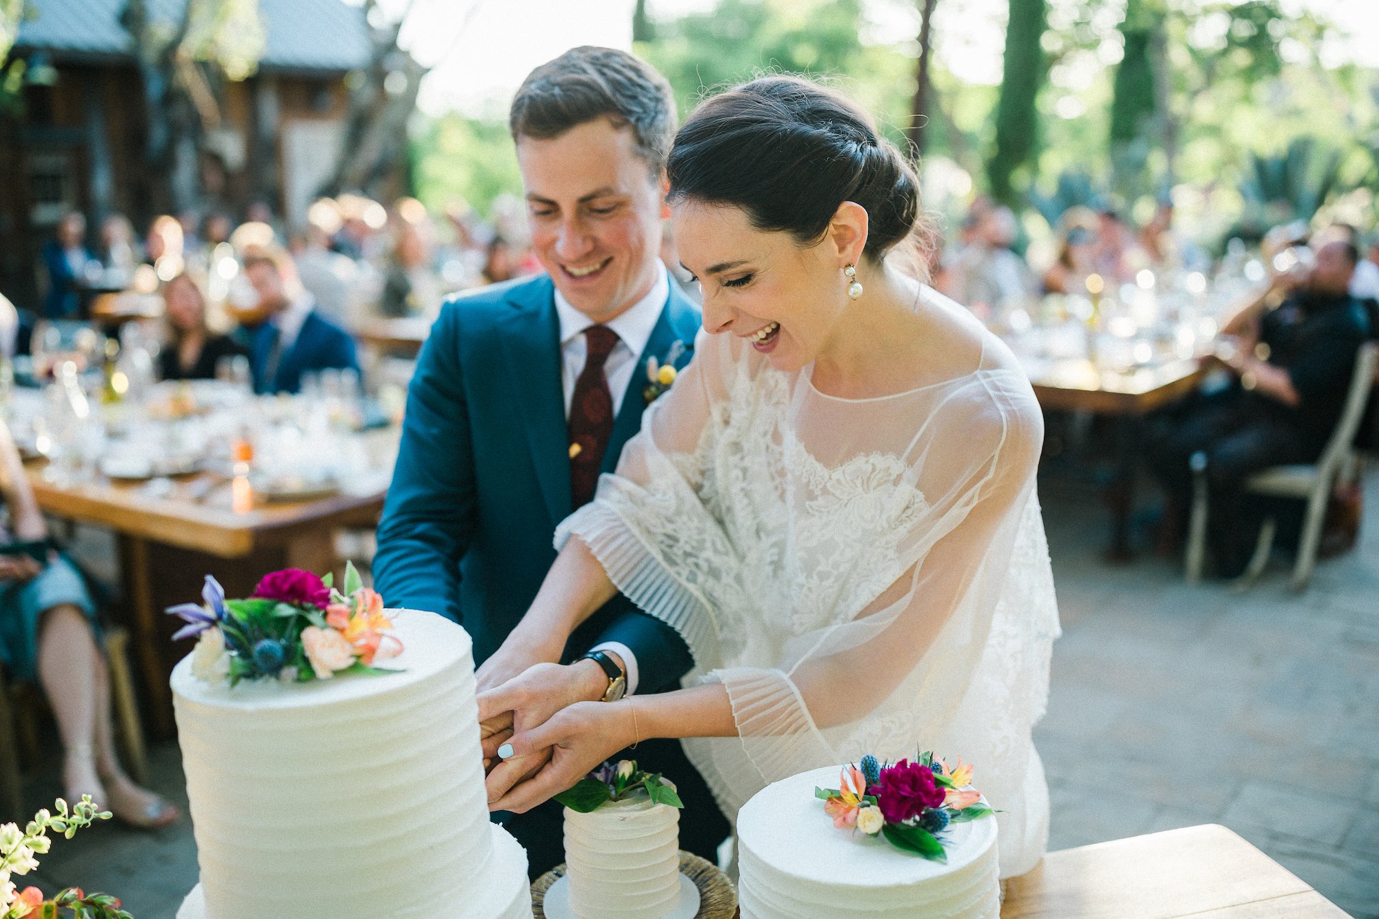
[[[120,745],[124,767],[142,785],[148,782],[149,764],[130,672],[130,633],[119,626],[106,628],[105,647],[116,742]],[[6,811],[0,820],[22,822],[26,818],[22,811],[22,769],[33,769],[41,762],[39,719],[44,708],[43,695],[36,686],[11,683],[0,676],[0,807]]]

